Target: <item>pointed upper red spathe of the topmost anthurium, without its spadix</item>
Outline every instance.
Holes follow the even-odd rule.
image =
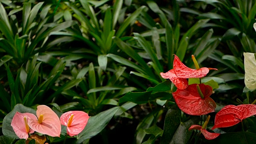
[[[174,55],[173,69],[179,78],[202,78],[209,72],[209,68],[200,68],[199,70],[188,68],[176,55]]]

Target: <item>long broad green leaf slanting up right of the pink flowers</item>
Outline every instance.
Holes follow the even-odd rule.
[[[101,132],[120,107],[110,108],[95,116],[91,116],[84,130],[77,136],[77,144],[89,139]]]

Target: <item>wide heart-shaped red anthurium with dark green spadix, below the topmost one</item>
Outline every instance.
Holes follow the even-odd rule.
[[[205,84],[191,84],[186,89],[177,89],[172,96],[183,112],[190,115],[204,115],[214,112],[216,103],[210,95],[212,87]]]

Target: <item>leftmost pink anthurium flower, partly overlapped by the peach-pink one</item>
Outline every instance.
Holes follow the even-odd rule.
[[[15,134],[20,139],[27,139],[28,134],[32,134],[34,130],[30,129],[28,126],[28,121],[31,119],[36,119],[34,114],[30,113],[20,113],[16,112],[14,117],[12,118],[11,126],[15,132]]]

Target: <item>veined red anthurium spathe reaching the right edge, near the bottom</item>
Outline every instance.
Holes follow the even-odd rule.
[[[214,128],[224,128],[234,126],[242,120],[249,118],[256,114],[256,105],[241,104],[238,106],[227,105],[224,106],[215,116]]]

